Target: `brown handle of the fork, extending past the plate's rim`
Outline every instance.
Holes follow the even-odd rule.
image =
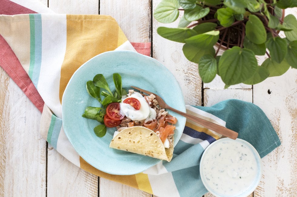
[[[204,120],[204,119],[201,119],[201,118],[198,118],[198,117],[195,117],[195,116],[192,116],[190,114],[187,114],[187,113],[184,113],[184,112],[181,112],[179,110],[176,110],[170,106],[166,107],[167,109],[171,110],[171,111],[174,111],[182,116],[185,116],[186,118],[189,118],[191,120],[193,120],[194,122],[197,122],[198,124],[212,130],[212,131],[215,131],[221,135],[224,135],[228,138],[231,138],[231,139],[236,139],[237,136],[238,136],[238,133],[235,132],[235,131],[232,131],[231,129],[228,129],[226,127],[223,127],[221,125],[218,125],[218,124],[215,124],[213,122],[209,122],[207,120]]]

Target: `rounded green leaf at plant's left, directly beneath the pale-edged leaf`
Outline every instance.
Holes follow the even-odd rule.
[[[191,61],[191,62],[195,62],[195,63],[199,63],[199,60],[202,56],[204,56],[205,54],[210,54],[212,56],[215,55],[215,49],[213,47],[211,48],[198,48],[195,47],[193,45],[190,44],[185,44],[182,47],[182,51],[184,52],[185,57]]]

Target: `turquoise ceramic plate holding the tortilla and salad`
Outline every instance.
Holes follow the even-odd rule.
[[[93,167],[106,173],[140,173],[160,160],[109,148],[115,128],[108,128],[106,135],[99,138],[93,129],[100,123],[82,117],[87,106],[101,105],[86,91],[86,82],[99,73],[105,76],[112,92],[115,91],[112,75],[119,73],[126,90],[133,85],[155,92],[170,106],[185,112],[181,88],[170,71],[157,60],[123,50],[105,52],[90,59],[75,71],[65,89],[62,99],[63,127],[77,153]],[[172,111],[169,113],[178,119],[174,134],[176,145],[186,118]]]

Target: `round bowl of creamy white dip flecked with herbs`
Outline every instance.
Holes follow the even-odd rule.
[[[261,157],[247,141],[222,138],[209,145],[200,160],[205,188],[218,197],[245,197],[262,176]]]

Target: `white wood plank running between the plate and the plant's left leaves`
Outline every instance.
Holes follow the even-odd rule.
[[[153,10],[159,2],[161,0],[153,1]],[[172,42],[157,33],[157,28],[160,26],[177,27],[178,20],[172,24],[162,24],[153,18],[152,26],[153,58],[165,65],[175,76],[182,88],[186,104],[201,105],[202,81],[198,74],[198,65],[185,58],[182,53],[183,43]]]

